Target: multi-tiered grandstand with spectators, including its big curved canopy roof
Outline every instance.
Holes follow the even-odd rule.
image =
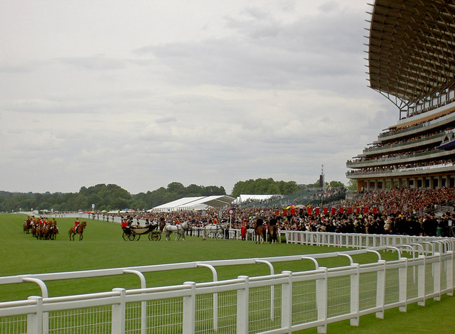
[[[376,0],[368,36],[370,87],[397,124],[346,163],[358,190],[455,185],[455,4]]]

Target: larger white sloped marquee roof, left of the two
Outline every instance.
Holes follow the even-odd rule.
[[[172,202],[161,204],[148,211],[180,211],[180,210],[200,210],[205,208],[223,208],[232,203],[234,198],[227,195],[185,197]]]

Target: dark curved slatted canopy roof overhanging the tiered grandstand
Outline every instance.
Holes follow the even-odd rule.
[[[368,50],[370,87],[397,107],[455,87],[455,4],[375,0]]]

